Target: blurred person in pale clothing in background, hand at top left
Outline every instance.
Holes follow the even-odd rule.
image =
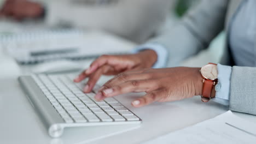
[[[143,43],[165,25],[176,0],[5,0],[0,15],[50,26],[101,29]]]

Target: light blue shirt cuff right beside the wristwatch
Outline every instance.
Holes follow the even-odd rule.
[[[232,67],[218,64],[218,84],[215,86],[216,96],[213,101],[229,105],[230,78]]]

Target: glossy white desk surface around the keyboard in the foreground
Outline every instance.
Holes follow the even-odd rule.
[[[170,103],[154,103],[136,109],[130,103],[139,95],[128,94],[126,97],[121,95],[117,99],[124,101],[125,106],[143,119],[141,127],[94,141],[82,139],[84,134],[80,132],[84,128],[74,128],[64,132],[70,135],[65,135],[61,139],[51,139],[37,113],[21,91],[17,77],[22,74],[22,71],[14,71],[19,67],[10,58],[5,58],[8,59],[9,65],[13,65],[11,66],[13,68],[8,68],[10,70],[9,76],[4,76],[8,74],[6,72],[1,73],[2,76],[0,77],[0,112],[2,113],[0,143],[74,143],[72,141],[76,136],[80,137],[80,140],[76,143],[140,143],[202,122],[205,119],[213,118],[228,110],[228,107],[213,101],[201,103],[199,97]],[[107,79],[109,78],[102,77],[100,83],[104,83]],[[255,116],[234,113],[256,123]]]

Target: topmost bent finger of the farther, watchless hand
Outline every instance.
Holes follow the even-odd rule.
[[[117,57],[103,55],[103,56],[97,58],[94,62],[92,62],[90,67],[85,71],[85,73],[86,74],[91,74],[96,69],[98,69],[99,67],[101,67],[102,65],[105,65],[105,64],[115,65],[115,64],[118,64],[118,63],[120,63],[120,61],[118,61]]]

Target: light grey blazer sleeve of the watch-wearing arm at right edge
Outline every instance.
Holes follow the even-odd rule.
[[[230,110],[256,115],[256,68],[232,67]]]

